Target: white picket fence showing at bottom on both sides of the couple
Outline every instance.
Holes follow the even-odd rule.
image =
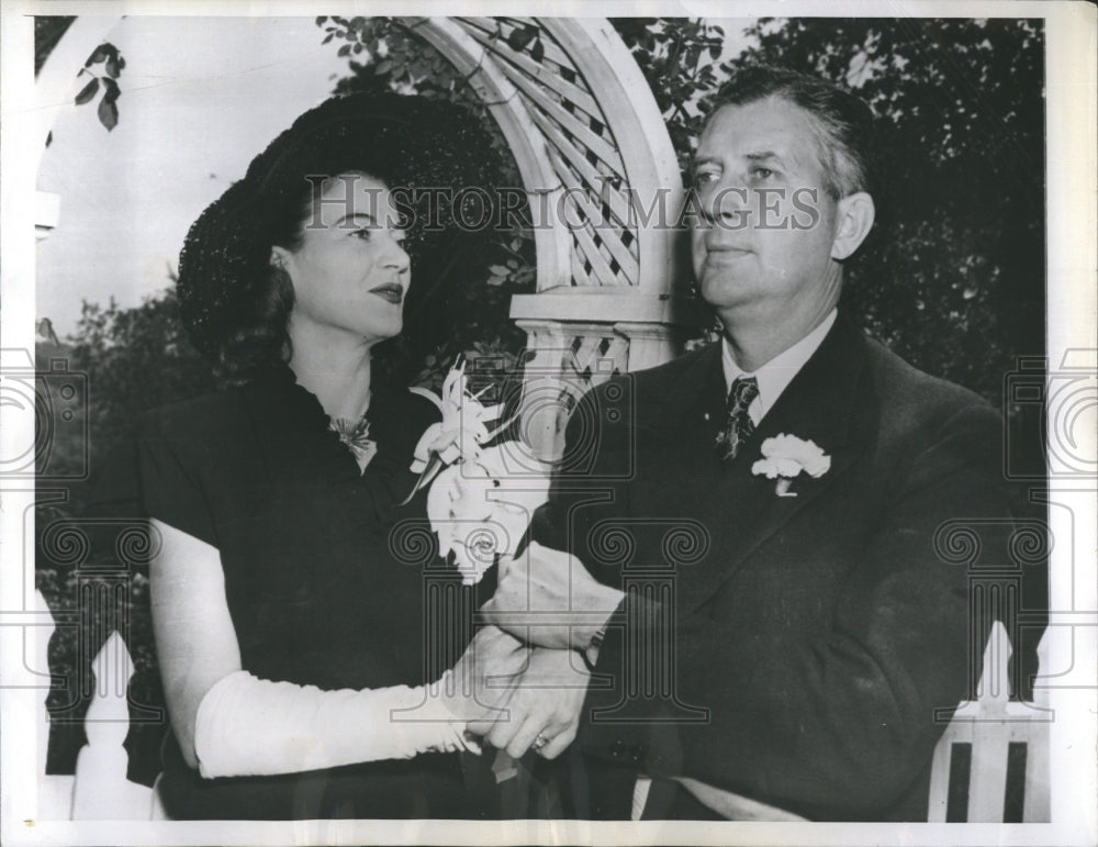
[[[41,592],[40,612],[49,615]],[[52,616],[49,620],[53,620]],[[40,668],[47,667],[47,645],[53,626],[42,627],[37,643]],[[1011,646],[1004,626],[996,622],[984,654],[978,699],[963,703],[934,751],[930,782],[931,822],[946,821],[950,766],[955,745],[971,745],[967,785],[970,822],[1004,820],[1011,745],[1024,745],[1026,822],[1049,821],[1047,713],[1030,704],[1011,702],[1007,662]],[[126,643],[112,633],[92,662],[97,695],[85,718],[88,744],[80,750],[74,776],[47,776],[48,733],[38,737],[38,815],[41,820],[167,820],[157,793],[126,779],[128,757],[123,743],[130,731],[126,688],[134,672]],[[44,690],[41,727],[48,726]],[[1018,748],[1015,757],[1019,759]],[[955,779],[955,774],[953,774]],[[955,792],[954,792],[955,793]]]

